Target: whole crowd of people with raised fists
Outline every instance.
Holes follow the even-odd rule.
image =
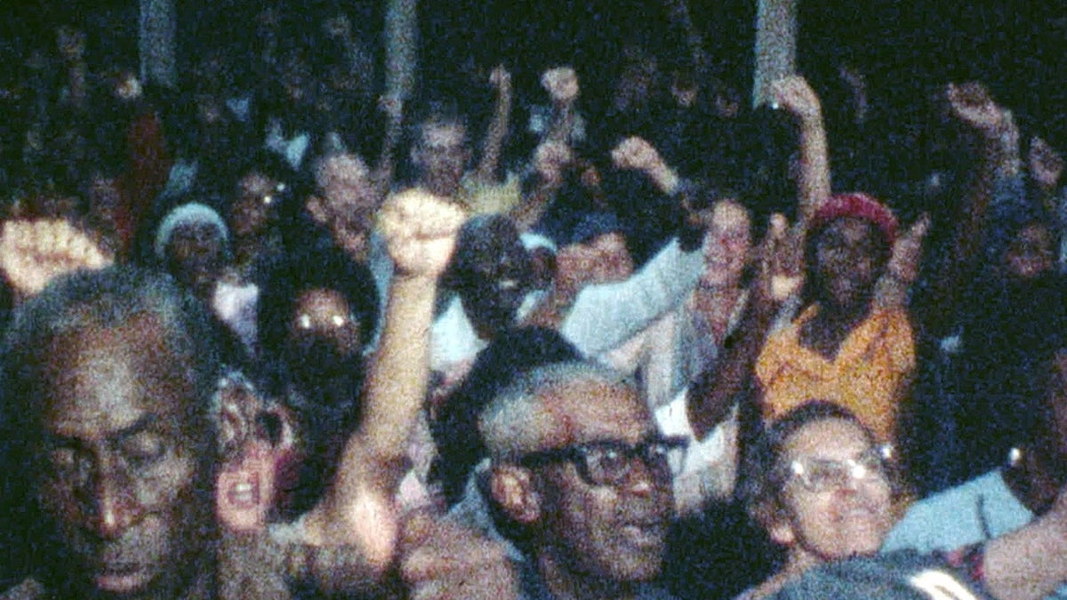
[[[404,98],[256,22],[0,91],[3,598],[1067,597],[1065,163],[981,82],[867,173],[851,66]]]

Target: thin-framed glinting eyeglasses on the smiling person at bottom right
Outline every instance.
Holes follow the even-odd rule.
[[[890,444],[873,446],[857,458],[844,460],[800,457],[785,465],[783,480],[796,481],[815,493],[838,490],[853,481],[878,479],[889,484],[893,458],[894,449]]]

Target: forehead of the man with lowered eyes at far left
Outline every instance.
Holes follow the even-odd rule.
[[[46,348],[43,425],[81,440],[107,439],[148,416],[180,417],[195,402],[189,362],[165,344],[156,317],[87,326]]]

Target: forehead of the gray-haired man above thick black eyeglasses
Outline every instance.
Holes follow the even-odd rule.
[[[555,425],[552,445],[636,442],[653,430],[648,407],[631,385],[586,379],[546,390],[540,398]]]

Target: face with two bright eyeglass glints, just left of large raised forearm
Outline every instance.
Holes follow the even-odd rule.
[[[345,375],[363,347],[360,321],[336,289],[309,289],[297,299],[287,344],[290,367],[313,378]]]

